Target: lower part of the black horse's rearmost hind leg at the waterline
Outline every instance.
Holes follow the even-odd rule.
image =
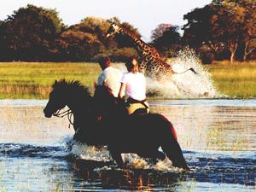
[[[166,138],[167,140],[168,138]],[[183,152],[177,143],[177,140],[169,138],[169,141],[164,141],[161,145],[163,151],[167,157],[172,160],[172,166],[177,166],[186,170],[189,170],[189,166],[183,157]]]

